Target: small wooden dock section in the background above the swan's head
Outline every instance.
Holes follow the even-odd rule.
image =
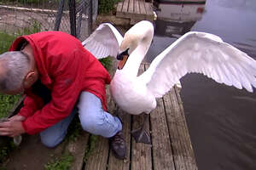
[[[153,21],[153,4],[145,0],[123,0],[118,3],[116,17],[130,19],[131,25],[141,20]]]

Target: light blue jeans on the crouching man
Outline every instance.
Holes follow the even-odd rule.
[[[46,128],[40,133],[41,141],[48,147],[60,144],[67,134],[67,127],[73,117],[79,113],[79,119],[84,131],[110,138],[122,129],[119,118],[112,116],[102,109],[102,101],[96,95],[82,92],[79,103],[72,113],[55,125]]]

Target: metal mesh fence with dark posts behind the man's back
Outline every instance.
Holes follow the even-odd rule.
[[[83,41],[91,32],[97,0],[0,0],[0,54],[17,36],[65,31]]]

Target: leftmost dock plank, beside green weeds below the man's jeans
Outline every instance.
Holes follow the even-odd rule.
[[[74,158],[70,170],[81,170],[84,164],[84,153],[87,148],[89,133],[83,133],[73,142],[67,144],[66,150],[69,151]]]

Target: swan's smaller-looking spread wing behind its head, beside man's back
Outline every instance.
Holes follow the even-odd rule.
[[[116,57],[122,41],[123,37],[113,25],[103,23],[82,44],[97,59],[101,59],[108,55]]]

